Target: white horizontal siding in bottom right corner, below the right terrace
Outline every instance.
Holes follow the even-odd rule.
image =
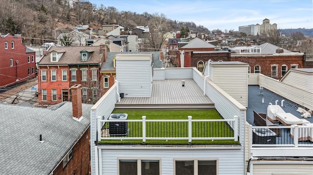
[[[268,164],[253,164],[251,175],[313,175],[313,162],[311,164],[285,163],[273,164],[273,161]],[[252,163],[252,162],[251,162]]]

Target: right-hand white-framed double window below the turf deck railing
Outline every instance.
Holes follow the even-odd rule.
[[[175,175],[218,175],[217,160],[188,160],[174,161]]]

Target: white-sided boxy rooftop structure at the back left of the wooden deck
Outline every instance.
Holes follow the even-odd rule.
[[[150,60],[118,60],[116,80],[124,97],[151,97],[152,67]]]

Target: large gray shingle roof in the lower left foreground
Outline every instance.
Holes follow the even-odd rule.
[[[89,127],[91,107],[83,104],[78,122],[71,102],[56,110],[0,103],[1,174],[48,175]]]

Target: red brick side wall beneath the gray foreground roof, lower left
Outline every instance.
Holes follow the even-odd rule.
[[[90,144],[89,129],[73,147],[73,157],[63,168],[63,162],[55,169],[53,175],[89,175],[90,172]],[[74,174],[75,172],[75,174]]]

